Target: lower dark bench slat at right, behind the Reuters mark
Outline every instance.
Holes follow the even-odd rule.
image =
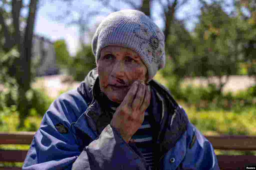
[[[254,155],[216,155],[221,170],[244,169],[245,165],[256,165]]]

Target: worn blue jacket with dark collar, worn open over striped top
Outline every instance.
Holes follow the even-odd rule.
[[[96,97],[97,83],[98,72],[93,69],[77,89],[50,105],[22,169],[150,170],[135,144],[126,143],[110,125],[112,118]],[[154,80],[149,84],[155,169],[219,169],[211,143],[188,121],[184,109],[164,86]],[[156,101],[162,106],[159,124]]]

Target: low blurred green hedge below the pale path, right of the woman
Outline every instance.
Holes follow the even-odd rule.
[[[237,93],[220,93],[214,84],[208,87],[188,85],[177,88],[169,83],[168,88],[175,99],[185,102],[188,106],[195,106],[196,110],[218,110],[240,112],[244,107],[256,105],[256,86]]]

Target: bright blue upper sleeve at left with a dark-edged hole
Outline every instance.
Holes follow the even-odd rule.
[[[86,108],[86,104],[76,94],[58,97],[43,116],[22,169],[71,169],[80,152],[70,125],[76,122]]]

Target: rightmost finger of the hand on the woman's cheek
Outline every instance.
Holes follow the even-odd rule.
[[[146,85],[141,82],[140,85],[138,86],[138,91],[137,94],[132,102],[132,110],[137,110],[138,108],[140,108],[143,100],[144,100],[144,96],[145,96],[145,89]]]

